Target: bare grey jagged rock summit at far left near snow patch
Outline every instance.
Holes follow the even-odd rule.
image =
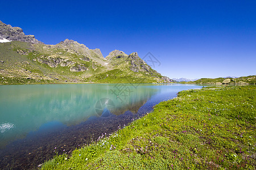
[[[32,44],[44,44],[35,39],[34,35],[25,35],[22,28],[11,27],[0,21],[0,36],[9,41],[23,41]]]

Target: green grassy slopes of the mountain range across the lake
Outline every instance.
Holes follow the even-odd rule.
[[[106,60],[93,50],[77,46],[30,44],[11,41],[0,44],[0,85],[1,84],[48,84],[48,83],[162,83],[162,75],[151,68],[143,72],[141,59],[134,59],[138,73],[131,71],[131,59],[123,58]],[[84,61],[82,58],[88,58]],[[71,65],[61,66],[58,58],[65,63],[72,61],[88,69],[73,72]],[[42,59],[44,62],[40,62]],[[64,61],[65,59],[65,61]],[[48,61],[48,64],[47,64]],[[56,67],[50,67],[54,64]],[[108,63],[108,64],[105,64]],[[122,71],[121,71],[122,70]],[[29,79],[27,79],[29,78]]]

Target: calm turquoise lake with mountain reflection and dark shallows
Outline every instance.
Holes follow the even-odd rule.
[[[194,84],[0,86],[0,169],[33,169],[108,136]]]

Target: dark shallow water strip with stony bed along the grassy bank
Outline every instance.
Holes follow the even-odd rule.
[[[187,86],[187,89],[200,87],[195,85],[192,85],[192,87],[185,86]],[[177,92],[179,91],[176,91],[175,94],[172,92],[172,96],[169,99],[176,97]],[[44,161],[52,159],[56,152],[59,152],[59,154],[71,154],[75,148],[96,141],[102,134],[108,136],[133,120],[151,112],[153,107],[160,103],[160,101],[168,100],[166,95],[168,96],[168,94],[152,95],[146,101],[137,103],[139,107],[134,105],[120,115],[111,114],[108,117],[100,118],[92,116],[78,125],[60,125],[58,126],[60,127],[59,129],[56,128],[51,133],[48,133],[49,129],[47,128],[31,132],[26,138],[11,142],[4,149],[0,150],[0,167],[2,169],[34,169],[38,168],[38,165]],[[51,130],[51,126],[49,127]]]

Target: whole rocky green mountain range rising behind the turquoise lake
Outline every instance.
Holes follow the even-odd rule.
[[[136,52],[114,50],[104,58],[100,49],[68,39],[46,45],[2,22],[0,37],[0,84],[173,82]]]

